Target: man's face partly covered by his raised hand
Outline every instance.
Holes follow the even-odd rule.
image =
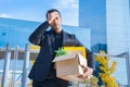
[[[49,13],[47,20],[51,22],[50,25],[54,29],[58,28],[58,26],[61,26],[61,24],[62,24],[62,18],[60,16],[58,12]]]

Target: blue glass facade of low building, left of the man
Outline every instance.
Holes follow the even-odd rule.
[[[24,45],[28,44],[29,34],[38,25],[38,22],[0,17],[0,48],[4,48],[6,42],[10,42],[13,48],[17,45],[24,48]]]

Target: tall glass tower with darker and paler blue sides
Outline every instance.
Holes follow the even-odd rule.
[[[108,54],[130,54],[130,0],[79,0],[79,26],[91,28],[92,49],[99,49],[94,45],[106,42]],[[128,61],[110,59],[114,60],[118,62],[117,83],[130,86]]]

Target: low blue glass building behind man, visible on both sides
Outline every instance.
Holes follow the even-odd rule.
[[[5,48],[10,42],[12,48],[20,46],[22,49],[28,44],[28,37],[40,22],[12,20],[0,17],[0,48]],[[64,30],[75,34],[77,38],[90,49],[90,29],[63,25]]]

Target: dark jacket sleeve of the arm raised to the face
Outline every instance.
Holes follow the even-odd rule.
[[[36,30],[29,36],[29,41],[34,45],[40,45],[42,36],[46,29],[49,27],[49,23],[46,21],[43,22]]]

